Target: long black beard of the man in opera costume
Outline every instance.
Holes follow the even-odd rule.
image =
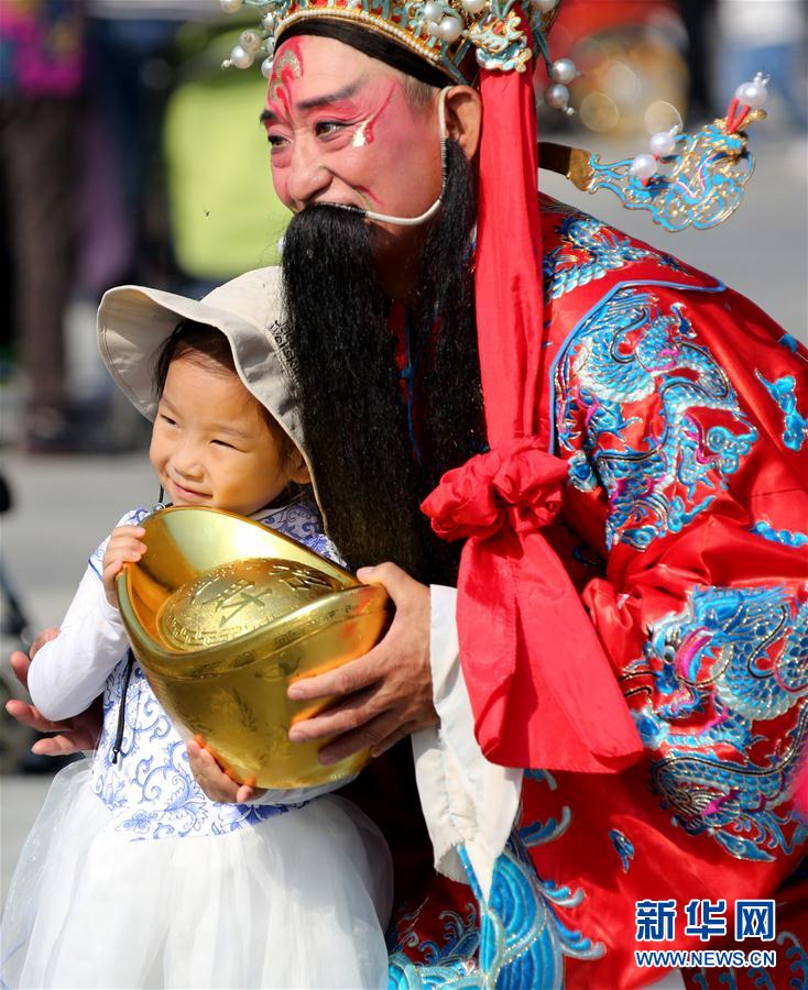
[[[476,216],[471,167],[450,142],[444,202],[422,251],[411,315],[410,351],[422,369],[417,452],[370,226],[338,207],[314,206],[286,232],[284,350],[297,374],[326,526],[353,568],[391,560],[419,581],[455,583],[459,547],[432,534],[419,504],[445,471],[484,447],[469,244]]]

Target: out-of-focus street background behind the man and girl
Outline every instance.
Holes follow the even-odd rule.
[[[229,6],[238,6],[229,0]],[[112,285],[201,296],[277,261],[286,222],[258,118],[258,65],[221,62],[258,15],[217,0],[0,0],[0,442],[2,700],[31,630],[58,624],[88,553],[125,507],[156,497],[146,424],[96,354]],[[666,234],[558,176],[545,191],[739,288],[796,337],[806,324],[806,0],[565,0],[554,58],[583,76],[541,134],[618,161],[651,133],[725,114],[740,82],[771,76],[754,127],[757,174],[727,223]],[[541,100],[546,87],[536,79]],[[0,715],[3,890],[48,760]],[[39,774],[42,774],[40,777]]]

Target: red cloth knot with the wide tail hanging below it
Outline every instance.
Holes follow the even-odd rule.
[[[612,772],[642,747],[609,661],[541,529],[567,465],[537,438],[449,471],[422,506],[448,540],[467,538],[457,623],[480,747],[511,767]]]

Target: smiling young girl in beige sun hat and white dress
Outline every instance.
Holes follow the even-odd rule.
[[[251,516],[336,557],[313,502],[288,497],[308,469],[264,330],[271,277],[248,273],[201,302],[112,289],[99,310],[101,353],[154,419],[150,458],[166,501]],[[128,513],[92,554],[59,635],[31,666],[43,714],[69,717],[103,694],[103,728],[91,763],[54,781],[23,849],[3,986],[386,986],[392,881],[375,827],[342,799],[318,796],[334,785],[209,801],[137,663],[122,698],[114,579],[145,549],[144,515]]]

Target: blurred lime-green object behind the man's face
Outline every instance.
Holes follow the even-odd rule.
[[[275,265],[291,213],[272,188],[259,72],[226,72],[234,36],[214,37],[172,94],[163,131],[174,250],[183,271],[223,280]],[[211,57],[223,53],[220,57]]]

